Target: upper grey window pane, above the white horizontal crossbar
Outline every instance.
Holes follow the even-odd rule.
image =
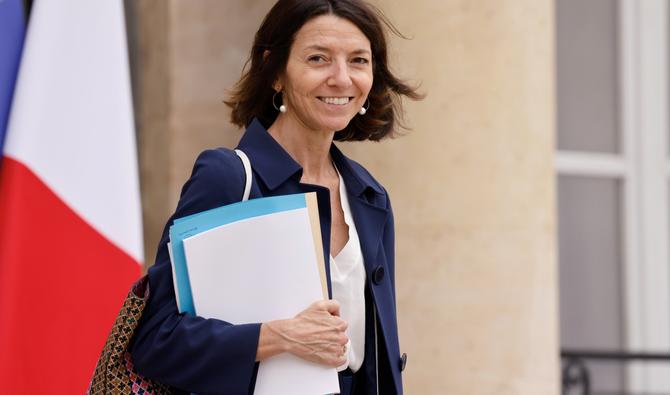
[[[555,2],[561,150],[620,151],[616,4],[611,0]]]

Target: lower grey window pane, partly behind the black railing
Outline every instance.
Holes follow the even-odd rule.
[[[620,181],[559,176],[561,347],[624,346]],[[589,361],[593,390],[621,393],[623,365]]]

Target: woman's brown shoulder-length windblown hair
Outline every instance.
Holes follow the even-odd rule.
[[[364,116],[356,115],[346,128],[335,133],[335,140],[378,141],[392,135],[396,127],[404,127],[402,96],[414,100],[423,96],[389,70],[385,27],[403,36],[378,8],[361,0],[277,1],[256,32],[247,60],[247,66],[250,64],[248,70],[224,101],[232,108],[233,124],[246,127],[255,117],[265,126],[274,122],[279,112],[272,102],[275,94],[272,86],[286,70],[294,37],[307,21],[326,14],[347,19],[356,25],[370,41],[372,49],[370,107]],[[277,98],[276,105],[281,104],[279,101]]]

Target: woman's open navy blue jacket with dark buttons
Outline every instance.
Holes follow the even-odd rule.
[[[247,154],[253,168],[251,198],[316,192],[328,265],[331,226],[328,189],[300,183],[302,168],[258,120],[249,125],[238,147]],[[406,357],[401,357],[398,346],[391,203],[384,188],[334,144],[331,156],[349,195],[367,273],[366,350],[364,364],[356,377],[366,383],[366,394],[377,393],[377,376],[379,393],[402,394],[401,370]],[[151,294],[133,338],[132,358],[140,374],[171,385],[176,392],[253,392],[260,323],[232,325],[179,314],[167,252],[168,229],[175,218],[237,202],[244,184],[244,170],[233,151],[219,148],[200,154],[191,178],[182,188],[177,209],[165,226],[156,263],[149,269]],[[330,269],[326,269],[329,277]],[[330,292],[330,278],[328,287]],[[377,355],[374,322],[377,322]]]

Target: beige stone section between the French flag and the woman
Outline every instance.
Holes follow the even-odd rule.
[[[203,149],[235,146],[223,99],[274,2],[126,0],[138,129],[145,262]]]

